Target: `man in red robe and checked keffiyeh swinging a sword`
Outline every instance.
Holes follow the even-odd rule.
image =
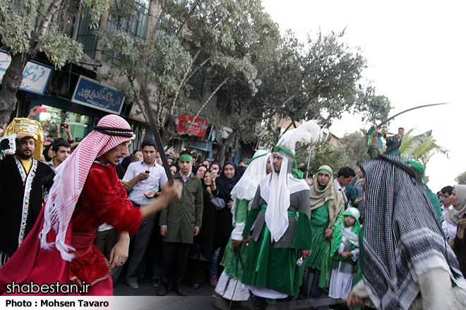
[[[105,116],[61,163],[24,246],[0,268],[0,292],[11,293],[12,281],[39,285],[59,281],[82,288],[90,285],[75,294],[112,295],[110,269],[126,258],[114,255],[108,263],[93,244],[96,228],[109,223],[120,233],[136,233],[143,218],[181,197],[181,185],[174,183],[165,186],[155,202],[133,208],[115,170],[129,153],[127,143],[132,139],[123,118]],[[68,292],[52,292],[63,293]]]

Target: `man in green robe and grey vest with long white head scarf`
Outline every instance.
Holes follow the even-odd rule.
[[[265,309],[266,299],[297,294],[297,261],[311,252],[309,185],[294,178],[293,163],[292,151],[275,147],[272,173],[261,180],[246,219],[243,237],[250,245],[241,281],[254,294],[256,309]]]

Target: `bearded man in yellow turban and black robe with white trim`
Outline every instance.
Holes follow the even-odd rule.
[[[42,182],[53,174],[39,161],[43,136],[37,121],[15,118],[5,133],[0,140],[0,267],[34,226],[45,199]]]

